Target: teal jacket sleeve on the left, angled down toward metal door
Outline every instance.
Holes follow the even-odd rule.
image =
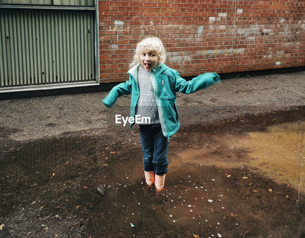
[[[112,107],[115,102],[117,101],[117,98],[122,95],[128,95],[131,94],[132,90],[132,79],[126,81],[125,83],[120,83],[117,86],[114,86],[109,94],[103,99],[103,103],[106,107]]]

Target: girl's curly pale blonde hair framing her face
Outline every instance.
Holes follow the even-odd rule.
[[[138,42],[137,48],[135,49],[133,61],[130,64],[130,68],[135,65],[141,64],[140,56],[143,48],[147,50],[156,51],[158,57],[158,63],[156,67],[162,65],[165,62],[166,53],[162,41],[157,37],[146,37],[142,41]]]

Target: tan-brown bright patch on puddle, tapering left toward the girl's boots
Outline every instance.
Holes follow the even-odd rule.
[[[286,183],[304,192],[305,187],[300,186],[305,160],[304,135],[303,121],[268,126],[264,132],[227,132],[215,137],[218,146],[203,145],[183,151],[178,157],[225,168],[249,167],[277,183]],[[213,153],[219,150],[223,150],[220,156]]]

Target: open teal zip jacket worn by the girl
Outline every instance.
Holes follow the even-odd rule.
[[[129,80],[113,87],[102,101],[106,107],[111,107],[118,97],[131,94],[130,116],[134,118],[135,107],[140,95],[137,69],[138,65],[131,68],[127,72],[129,73]],[[151,70],[150,76],[158,106],[162,132],[167,138],[177,132],[180,126],[176,107],[176,92],[193,93],[220,82],[220,77],[217,73],[204,73],[190,81],[186,81],[179,76],[176,70],[167,67],[165,64]],[[130,125],[130,129],[134,124],[135,122]]]

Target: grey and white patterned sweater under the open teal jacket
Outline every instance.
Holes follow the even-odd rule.
[[[160,123],[158,106],[156,103],[155,92],[152,87],[152,80],[150,78],[150,72],[146,71],[142,65],[138,67],[138,84],[140,90],[140,96],[135,108],[136,115],[141,117],[150,117],[150,123],[147,120],[143,120],[143,123],[139,124],[157,124]]]

